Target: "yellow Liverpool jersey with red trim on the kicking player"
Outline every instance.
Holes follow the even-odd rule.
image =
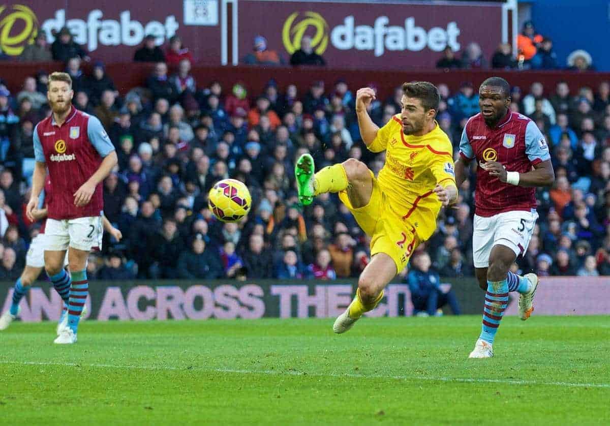
[[[436,229],[441,203],[432,192],[437,184],[455,185],[453,146],[439,124],[433,131],[414,136],[403,133],[400,114],[379,129],[368,146],[373,152],[386,150],[386,164],[378,182],[393,211],[408,220],[422,240]]]

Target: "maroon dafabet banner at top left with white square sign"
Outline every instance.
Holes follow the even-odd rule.
[[[221,1],[15,0],[0,5],[0,48],[16,57],[38,32],[52,43],[67,26],[94,60],[131,62],[145,35],[166,46],[179,35],[197,62],[220,65]]]

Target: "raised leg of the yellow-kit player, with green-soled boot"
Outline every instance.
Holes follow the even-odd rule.
[[[350,158],[341,164],[334,164],[315,173],[314,159],[303,154],[296,161],[295,176],[302,204],[311,204],[316,195],[326,192],[348,190],[354,208],[368,204],[373,190],[373,178],[368,167]]]

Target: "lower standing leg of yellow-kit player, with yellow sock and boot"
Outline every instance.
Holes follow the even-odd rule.
[[[345,333],[350,330],[364,312],[372,311],[383,298],[383,290],[397,274],[394,259],[386,253],[377,253],[362,271],[358,279],[356,297],[350,306],[341,314],[332,330],[335,333]]]

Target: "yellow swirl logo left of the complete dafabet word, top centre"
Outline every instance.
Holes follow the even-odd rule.
[[[282,28],[282,41],[289,54],[292,55],[301,48],[301,39],[309,27],[313,27],[315,31],[311,40],[312,48],[318,55],[324,53],[326,46],[328,46],[328,23],[326,23],[326,20],[317,12],[294,12],[288,16]]]

